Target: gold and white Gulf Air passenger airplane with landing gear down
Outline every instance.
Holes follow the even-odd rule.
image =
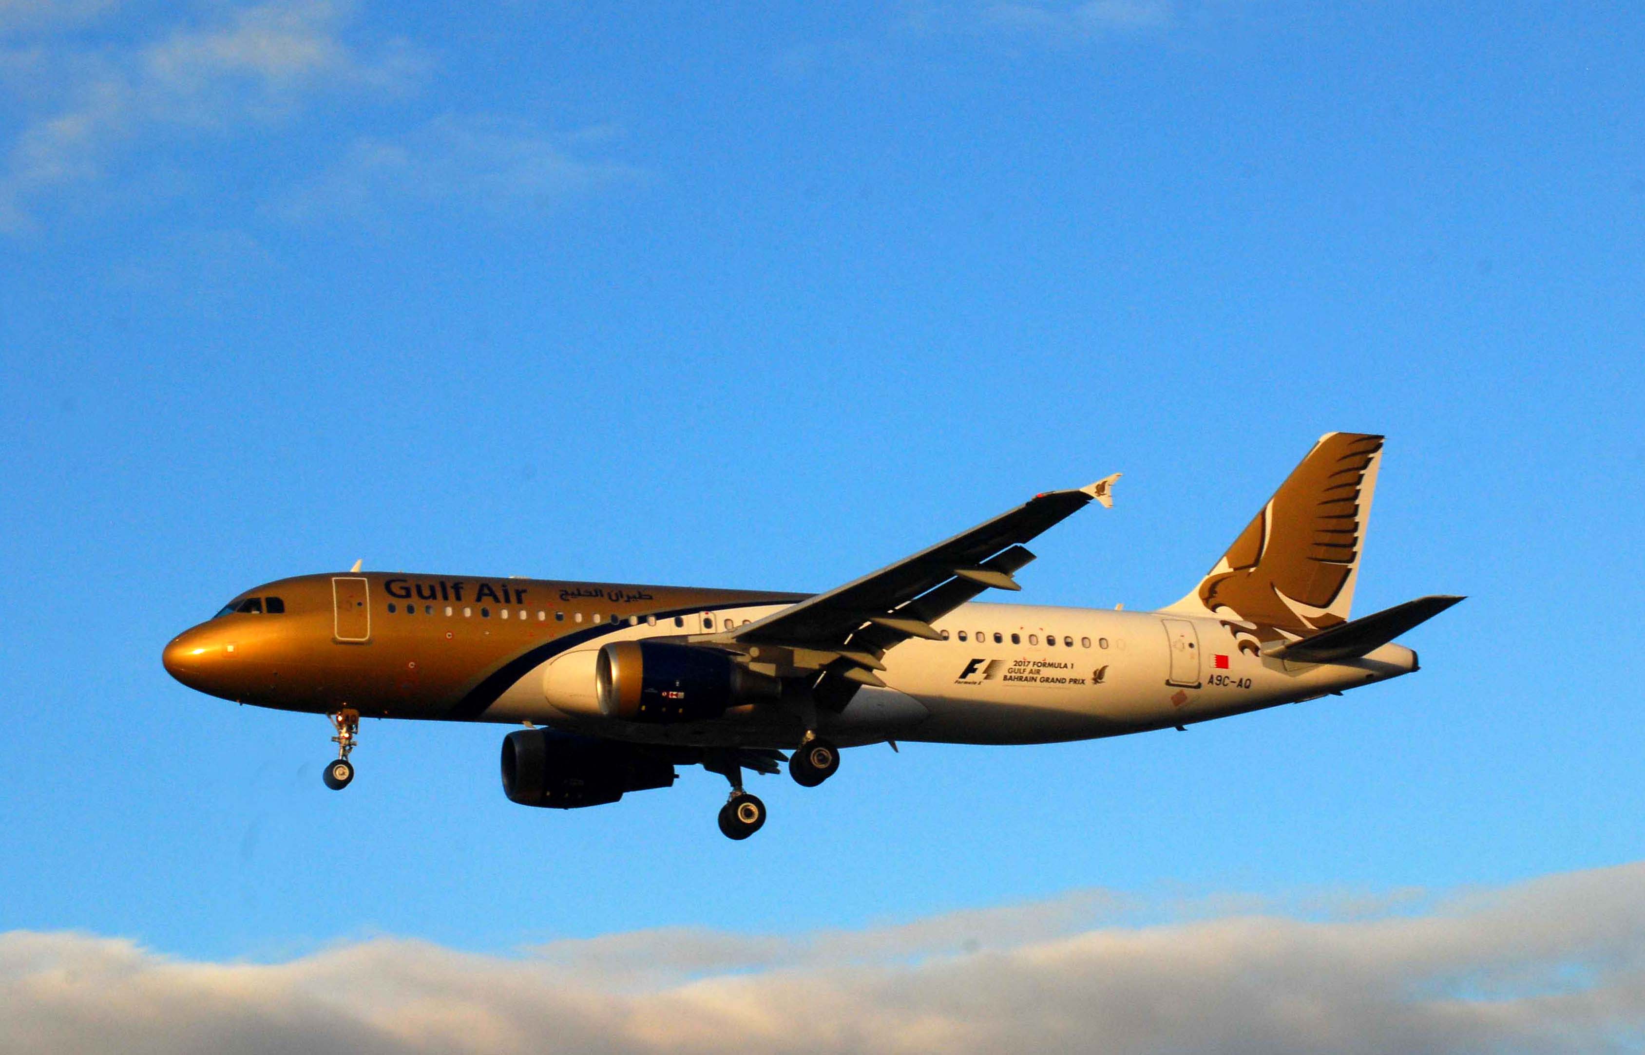
[[[1418,669],[1393,639],[1461,601],[1349,618],[1382,435],[1319,439],[1183,600],[1158,611],[979,603],[1020,590],[1025,542],[1119,473],[1045,491],[824,593],[515,577],[301,575],[235,597],[164,647],[199,692],[327,715],[341,790],[362,716],[494,721],[513,802],[582,809],[730,782],[719,828],[760,830],[744,771],[801,787],[841,749],[1096,739],[1341,695]],[[790,754],[783,754],[790,751]]]

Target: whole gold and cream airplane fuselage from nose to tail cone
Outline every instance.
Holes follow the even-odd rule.
[[[806,718],[745,703],[706,721],[599,713],[594,657],[614,641],[704,641],[804,593],[535,578],[341,574],[283,578],[164,649],[201,692],[294,712],[531,723],[633,743],[790,748]],[[270,600],[273,598],[273,600]],[[1339,664],[1262,656],[1247,628],[1171,611],[966,603],[885,654],[878,679],[818,731],[883,739],[1046,743],[1181,726],[1387,680],[1416,654]],[[1244,631],[1244,636],[1242,636]]]

